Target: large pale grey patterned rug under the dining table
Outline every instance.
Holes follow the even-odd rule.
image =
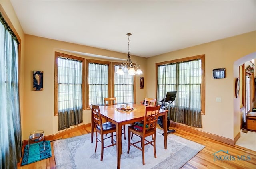
[[[100,161],[100,143],[98,143],[97,152],[94,153],[95,135],[93,143],[90,136],[91,134],[85,134],[54,141],[56,169],[116,169],[116,145],[105,148],[103,161]],[[133,137],[134,142],[138,140],[137,136]],[[145,165],[143,165],[142,151],[131,146],[130,153],[127,154],[127,142],[128,136],[126,140],[122,136],[121,169],[179,169],[205,147],[175,134],[168,134],[167,149],[164,149],[162,130],[157,129],[157,158],[154,158],[153,146],[146,145]],[[105,144],[109,145],[110,139],[104,140]]]

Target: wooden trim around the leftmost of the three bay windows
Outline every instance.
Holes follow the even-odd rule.
[[[82,61],[82,107],[85,110],[85,58],[68,55],[60,52],[55,52],[54,63],[54,116],[58,116],[58,57],[66,57]]]

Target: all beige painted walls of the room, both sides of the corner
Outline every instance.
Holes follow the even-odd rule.
[[[46,135],[55,134],[58,131],[57,117],[54,116],[54,51],[79,51],[120,59],[126,59],[126,54],[24,35],[10,1],[0,3],[22,39],[20,99],[23,140],[27,140],[33,130],[44,130]],[[139,89],[139,76],[136,77],[136,103],[145,97],[155,97],[155,63],[205,54],[206,112],[202,117],[203,128],[199,130],[233,139],[240,125],[239,98],[234,96],[235,77],[239,76],[238,65],[244,63],[241,58],[255,51],[256,31],[147,59],[132,56],[132,60],[141,65],[144,71],[141,77],[145,78],[144,89]],[[212,69],[220,67],[226,68],[226,78],[213,79]],[[43,91],[32,91],[33,70],[44,71]],[[216,102],[216,97],[221,97],[222,102]],[[90,110],[84,111],[83,124],[86,123],[90,123]]]

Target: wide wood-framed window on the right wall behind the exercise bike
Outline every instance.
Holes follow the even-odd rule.
[[[204,114],[204,55],[156,63],[157,100],[177,91],[173,106],[197,109]]]

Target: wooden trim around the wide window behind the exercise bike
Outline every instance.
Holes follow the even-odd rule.
[[[196,56],[192,56],[192,57],[185,57],[185,58],[181,58],[181,59],[174,59],[171,61],[164,61],[164,62],[156,63],[156,93],[155,93],[156,96],[157,96],[158,66],[159,65],[201,59],[201,66],[202,66],[201,114],[205,115],[205,58],[204,57],[205,57],[204,55],[196,55]]]

